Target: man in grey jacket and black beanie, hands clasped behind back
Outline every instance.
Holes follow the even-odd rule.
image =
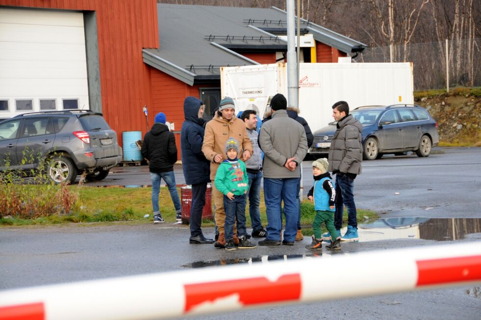
[[[259,245],[280,245],[284,201],[285,230],[282,244],[294,245],[297,234],[297,181],[299,164],[307,153],[303,126],[287,115],[287,101],[281,94],[270,103],[272,119],[260,128],[259,145],[264,152],[264,199],[267,213],[267,237]]]

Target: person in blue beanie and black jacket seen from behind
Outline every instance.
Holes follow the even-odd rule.
[[[180,199],[177,193],[174,163],[177,161],[177,147],[174,133],[165,125],[165,114],[159,112],[154,119],[151,131],[145,134],[140,153],[149,160],[149,171],[152,180],[153,223],[163,223],[164,218],[159,210],[160,179],[164,179],[169,188],[172,202],[176,208],[176,218],[180,221]]]

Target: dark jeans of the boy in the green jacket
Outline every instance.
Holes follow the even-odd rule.
[[[224,195],[224,210],[226,211],[226,224],[224,232],[226,241],[234,237],[234,223],[237,221],[237,237],[246,235],[246,195],[234,195],[234,200],[230,200]]]

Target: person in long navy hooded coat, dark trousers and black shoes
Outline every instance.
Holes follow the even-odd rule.
[[[184,118],[180,131],[180,148],[185,183],[192,186],[192,205],[190,207],[191,244],[214,243],[202,234],[202,211],[205,206],[205,191],[210,182],[210,161],[202,152],[205,120],[202,118],[204,106],[195,97],[184,100]]]

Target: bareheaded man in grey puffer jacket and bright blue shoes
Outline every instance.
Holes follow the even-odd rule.
[[[359,236],[354,203],[354,179],[361,173],[362,125],[349,114],[349,105],[345,101],[336,102],[332,106],[332,117],[337,121],[337,130],[332,137],[328,158],[329,171],[336,175],[334,226],[340,234],[345,205],[348,212],[348,228],[341,240],[355,241],[359,240]],[[329,239],[329,233],[325,233],[323,239]]]

